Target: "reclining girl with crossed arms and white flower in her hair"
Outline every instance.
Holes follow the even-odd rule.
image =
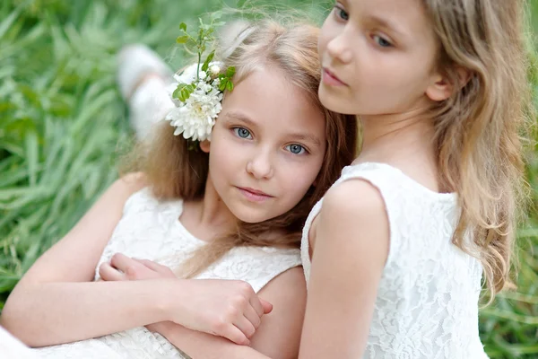
[[[142,172],[117,180],[38,259],[4,327],[47,346],[34,349],[41,357],[181,357],[170,326],[187,341],[215,335],[204,340],[221,357],[247,347],[221,337],[296,357],[300,232],[357,137],[356,123],[318,101],[317,36],[258,22],[177,76],[176,107],[145,141]]]

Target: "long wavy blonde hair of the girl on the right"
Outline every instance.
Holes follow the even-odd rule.
[[[521,129],[533,112],[519,0],[422,0],[456,91],[437,109],[442,180],[462,207],[453,242],[480,258],[490,300],[510,283],[518,208],[525,202]],[[462,82],[461,70],[471,74]],[[465,241],[473,234],[473,243]]]

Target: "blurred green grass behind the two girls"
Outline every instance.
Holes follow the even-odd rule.
[[[132,136],[115,84],[117,49],[143,42],[177,67],[178,23],[195,24],[199,14],[222,4],[218,0],[1,3],[0,310],[39,254],[117,178],[117,149]],[[330,7],[312,0],[276,3],[317,14]],[[233,6],[235,0],[227,4]],[[531,7],[533,39],[538,31],[538,0],[532,0]],[[536,47],[531,47],[534,71],[529,81],[535,88],[538,62]],[[528,157],[534,202],[529,223],[518,231],[518,289],[499,294],[481,311],[482,341],[495,358],[538,358],[537,153],[534,149]]]

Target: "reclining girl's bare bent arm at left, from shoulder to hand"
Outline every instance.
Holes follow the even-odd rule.
[[[144,186],[143,177],[132,174],[108,188],[65,238],[22,277],[5,303],[1,324],[29,346],[99,337],[163,320],[213,331],[239,343],[245,341],[243,333],[233,331],[234,320],[244,320],[243,310],[254,308],[259,316],[263,310],[260,313],[261,303],[251,288],[244,290],[244,284],[230,285],[237,285],[237,293],[252,306],[239,308],[237,316],[213,329],[216,320],[212,313],[196,317],[189,306],[196,301],[194,292],[199,289],[192,281],[92,282],[127,198]],[[233,294],[231,297],[237,297],[234,288],[227,292]],[[227,303],[226,296],[220,298],[223,305]]]

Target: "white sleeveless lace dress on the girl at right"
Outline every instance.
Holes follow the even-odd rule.
[[[367,180],[379,190],[390,228],[388,258],[362,358],[487,358],[478,332],[482,265],[451,243],[460,211],[456,194],[431,191],[383,163],[348,166],[334,186],[352,179]],[[303,231],[307,281],[308,232],[322,206],[323,199]]]

